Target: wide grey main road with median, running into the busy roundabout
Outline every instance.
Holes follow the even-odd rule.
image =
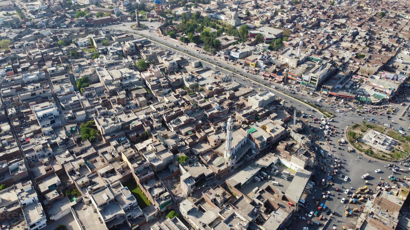
[[[135,22],[132,23],[125,23],[125,26],[122,25],[113,25],[113,26],[109,26],[109,28],[114,29],[114,30],[120,30],[120,31],[128,31],[130,33],[134,33],[134,34],[138,34],[138,35],[142,35],[146,38],[148,38],[149,40],[151,40],[152,42],[154,42],[155,44],[159,45],[160,47],[164,47],[166,49],[172,49],[173,51],[181,54],[181,55],[185,55],[189,58],[191,58],[191,60],[201,60],[203,63],[203,67],[213,67],[214,65],[217,65],[222,71],[223,69],[229,70],[234,72],[234,75],[232,77],[232,80],[235,80],[236,82],[244,85],[244,86],[251,86],[252,82],[255,83],[255,88],[263,88],[265,87],[267,90],[275,93],[277,96],[281,97],[282,99],[284,99],[287,103],[287,105],[294,105],[297,107],[298,110],[301,111],[307,111],[308,108],[310,108],[309,105],[300,102],[300,101],[296,101],[294,98],[292,98],[290,96],[290,92],[289,90],[286,90],[284,87],[280,86],[277,83],[275,84],[275,88],[276,89],[272,89],[271,87],[266,87],[264,85],[260,85],[258,86],[257,82],[255,82],[255,80],[257,80],[260,83],[265,83],[267,85],[269,85],[269,82],[266,80],[262,80],[260,78],[259,75],[254,75],[251,73],[246,73],[244,71],[244,69],[241,69],[238,65],[233,65],[233,63],[231,62],[226,62],[225,60],[221,59],[221,58],[217,58],[216,56],[210,56],[208,54],[200,54],[198,53],[197,48],[194,47],[189,47],[187,45],[181,45],[178,42],[174,42],[172,40],[166,39],[164,37],[160,37],[158,35],[158,33],[156,33],[156,30],[154,28],[156,28],[155,25],[158,24],[153,24],[153,28],[150,28],[149,30],[139,30],[139,31],[133,31],[132,29],[129,29],[128,27],[132,24],[134,24]],[[152,31],[152,32],[150,32]],[[185,49],[185,51],[184,51]],[[214,60],[215,58],[215,60]],[[236,71],[239,70],[239,71]],[[272,82],[273,83],[273,82]],[[300,97],[300,99],[303,100],[307,100],[307,101],[311,101],[312,103],[317,103],[317,99],[321,97],[321,95],[319,93],[315,93],[313,96],[311,96],[310,94],[307,94],[307,91],[305,91],[304,89],[300,89],[301,93],[296,92],[296,94],[292,94],[292,96],[296,96],[296,97]],[[326,98],[325,98],[326,99]],[[330,100],[330,98],[329,98]],[[409,98],[406,97],[405,101],[406,103],[408,103]],[[324,103],[323,100],[321,103],[319,103],[322,106],[322,109],[327,110],[328,112],[332,112],[335,113],[334,109],[327,107],[327,103]],[[333,103],[335,104],[335,103]],[[396,104],[394,104],[396,105]],[[407,127],[408,126],[408,121],[400,121],[399,117],[401,116],[401,114],[404,112],[403,108],[399,109],[401,111],[399,111],[397,114],[390,114],[389,116],[392,116],[392,119],[396,122],[399,123],[399,125],[401,125],[402,127]],[[342,164],[341,164],[341,168],[339,169],[338,175],[339,174],[343,174],[343,177],[339,177],[338,175],[334,177],[334,183],[335,185],[331,188],[327,188],[327,190],[330,190],[332,196],[330,196],[330,199],[328,200],[321,200],[320,203],[325,203],[326,206],[328,206],[328,208],[330,208],[331,211],[334,211],[336,213],[338,213],[337,216],[334,216],[334,218],[330,219],[330,224],[327,226],[326,229],[333,229],[333,226],[331,224],[335,224],[338,228],[341,228],[341,226],[347,226],[349,223],[353,223],[355,222],[356,219],[354,219],[352,216],[350,217],[345,217],[344,216],[344,205],[347,203],[347,205],[350,205],[352,208],[358,207],[360,204],[348,204],[348,199],[346,199],[347,201],[345,201],[345,203],[341,203],[341,199],[337,199],[337,196],[339,196],[339,198],[347,198],[347,195],[344,194],[344,189],[342,189],[342,186],[344,186],[345,188],[348,188],[350,190],[350,188],[352,187],[352,191],[355,192],[357,188],[359,187],[363,187],[364,186],[364,181],[363,179],[361,179],[361,175],[369,173],[370,177],[367,179],[367,181],[369,181],[368,186],[369,188],[374,190],[374,186],[376,185],[376,183],[380,180],[380,177],[382,177],[383,179],[387,179],[387,176],[389,176],[391,174],[391,172],[389,170],[387,170],[387,168],[385,168],[384,166],[387,163],[384,162],[380,162],[380,161],[370,161],[368,162],[367,157],[362,156],[360,154],[358,154],[357,152],[347,152],[347,145],[348,143],[346,143],[344,146],[342,146],[342,149],[339,150],[336,146],[337,146],[337,140],[339,140],[339,138],[342,138],[340,131],[342,129],[345,129],[349,124],[351,123],[362,123],[363,118],[368,119],[371,117],[374,117],[376,120],[378,120],[378,122],[380,123],[390,123],[391,120],[387,120],[387,116],[385,114],[383,114],[382,116],[367,116],[367,115],[362,115],[362,116],[358,116],[356,114],[356,112],[343,112],[345,114],[345,116],[343,116],[341,113],[335,113],[336,115],[333,117],[334,121],[331,122],[331,125],[335,125],[336,129],[339,131],[337,136],[329,136],[330,141],[325,141],[325,139],[323,138],[323,132],[319,131],[316,132],[317,135],[320,136],[319,138],[319,142],[321,143],[326,143],[326,145],[320,145],[318,148],[318,151],[323,150],[325,152],[325,155],[327,155],[327,153],[330,153],[330,156],[326,157],[326,164],[328,166],[333,165],[334,160],[335,159],[341,159],[342,160]],[[312,113],[313,117],[318,117],[320,119],[321,117],[321,113],[316,112],[316,109],[314,109],[314,112]],[[304,120],[304,119],[303,119]],[[311,119],[310,119],[311,120]],[[313,125],[312,123],[310,123],[311,125]],[[397,126],[396,128],[399,127],[399,125],[394,125]],[[315,125],[313,125],[315,126]],[[318,125],[316,125],[318,126]],[[331,150],[333,150],[334,152],[332,153]],[[317,154],[318,159],[321,162],[321,157],[320,154]],[[380,169],[382,170],[381,173],[375,173],[374,171],[376,169]],[[368,172],[367,172],[368,171]],[[327,172],[321,172],[320,170],[314,170],[313,171],[314,177],[318,180],[321,181],[321,179],[327,179]],[[403,177],[404,175],[407,175],[407,173],[399,173],[398,175],[396,175],[397,177]],[[344,176],[348,176],[348,180],[344,181]],[[337,192],[335,191],[335,188],[339,188],[339,195],[337,195]],[[309,198],[311,197],[315,197],[315,198],[321,198],[321,192],[323,192],[323,190],[321,190],[321,185],[317,185],[315,186],[315,188],[312,190],[313,194],[308,196]],[[349,192],[349,194],[352,194],[351,192]],[[315,207],[314,202],[311,202],[312,204],[305,210],[302,210],[300,214],[304,215],[305,212],[309,212],[310,210],[317,210],[317,207]],[[323,214],[324,213],[320,213]],[[325,215],[326,216],[326,215]],[[313,220],[315,223],[318,220],[318,217],[306,217],[307,220]],[[328,219],[328,217],[327,217]],[[340,221],[340,222],[338,222]],[[323,221],[322,221],[323,223]],[[292,227],[304,227],[306,226],[305,221],[300,221],[297,220],[296,223],[294,224],[294,226]],[[316,227],[316,226],[315,226]],[[309,228],[311,228],[311,226],[309,226]]]

